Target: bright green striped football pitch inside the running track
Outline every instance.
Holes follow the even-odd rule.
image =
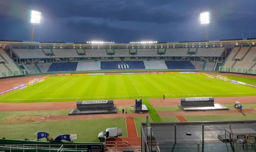
[[[255,96],[256,89],[200,74],[55,76],[0,96],[0,102]]]

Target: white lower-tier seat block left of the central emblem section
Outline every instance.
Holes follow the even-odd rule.
[[[81,61],[78,62],[76,71],[100,70],[99,61]]]

